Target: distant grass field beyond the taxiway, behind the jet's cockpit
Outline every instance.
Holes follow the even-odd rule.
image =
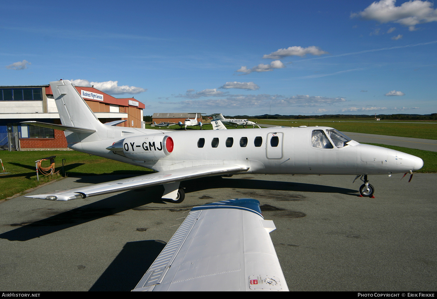
[[[273,119],[250,119],[253,122],[266,125],[283,125],[298,127],[300,125],[319,125],[335,128],[343,132],[378,134],[387,136],[400,136],[423,139],[437,139],[437,122],[409,122],[400,121],[376,122],[376,121],[315,121],[315,120],[273,120]],[[262,125],[260,125],[262,126]]]

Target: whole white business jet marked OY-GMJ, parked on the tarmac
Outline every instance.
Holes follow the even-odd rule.
[[[66,201],[163,184],[162,198],[184,200],[180,181],[225,174],[350,174],[364,176],[363,196],[374,188],[368,175],[412,173],[422,159],[357,143],[329,127],[173,132],[102,124],[68,80],[50,82],[68,147],[156,170],[129,179],[94,184],[32,198]]]

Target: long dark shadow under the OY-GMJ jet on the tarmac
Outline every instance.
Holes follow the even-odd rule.
[[[100,182],[111,181],[108,177],[113,176],[95,176],[82,177],[77,181]],[[120,177],[118,177],[120,178]],[[222,177],[205,177],[200,179],[183,181],[181,186],[185,188],[186,193],[214,189],[214,188],[235,188],[235,189],[250,189],[250,190],[272,190],[272,191],[302,191],[302,192],[324,192],[324,193],[340,193],[346,195],[357,196],[356,190],[347,188],[339,188],[333,186],[304,184],[295,182],[282,181],[263,181],[253,179],[237,179],[237,178],[222,178]],[[6,233],[0,234],[0,238],[10,241],[27,241],[33,238],[45,236],[50,233],[60,231],[69,227],[87,223],[95,219],[100,219],[106,216],[111,216],[119,212],[135,209],[149,203],[166,204],[161,199],[163,194],[163,186],[153,186],[149,188],[136,189],[126,191],[121,194],[113,195],[108,198],[101,199],[97,202],[92,202],[88,205],[83,205],[79,208],[71,209],[66,212],[60,212],[59,209],[50,209],[45,212],[49,216],[50,213],[55,214],[48,218],[41,219],[32,223],[11,223],[10,226],[19,226]],[[146,196],[145,196],[146,195]],[[254,197],[257,195],[251,193]],[[290,197],[291,199],[291,197]],[[80,200],[80,199],[79,199]],[[205,202],[199,202],[199,205]],[[191,206],[181,204],[171,205],[166,209],[191,209]],[[160,209],[160,208],[159,208]]]

